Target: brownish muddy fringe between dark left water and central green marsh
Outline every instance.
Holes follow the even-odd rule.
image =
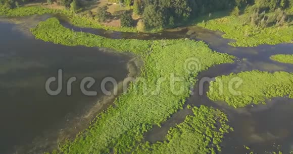
[[[103,51],[103,49],[101,51]],[[113,51],[107,50],[104,52],[112,53]],[[113,53],[115,54],[115,52]],[[45,135],[36,136],[33,139],[32,144],[16,146],[14,152],[42,153],[47,151],[54,151],[55,149],[59,148],[59,145],[63,145],[66,140],[74,139],[76,135],[89,128],[91,123],[96,120],[97,116],[107,111],[108,108],[115,108],[114,101],[123,93],[123,83],[128,82],[127,79],[129,78],[136,78],[139,75],[142,63],[143,62],[138,57],[133,57],[127,62],[126,67],[128,74],[122,81],[118,83],[118,94],[116,96],[113,94],[111,96],[103,95],[97,98],[97,101],[84,106],[83,109],[80,109],[80,112],[76,115],[71,115],[71,113],[68,113],[64,119],[58,122],[57,128],[44,130],[43,134]],[[127,84],[127,88],[128,86],[129,84]],[[112,92],[113,90],[114,89],[110,91]]]

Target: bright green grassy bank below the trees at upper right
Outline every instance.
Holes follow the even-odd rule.
[[[245,15],[242,15],[245,16]],[[236,42],[229,43],[232,46],[252,47],[260,44],[292,43],[293,25],[284,27],[268,27],[264,29],[251,25],[243,25],[243,17],[227,16],[199,23],[198,26],[221,31],[225,34],[223,38],[233,39]]]

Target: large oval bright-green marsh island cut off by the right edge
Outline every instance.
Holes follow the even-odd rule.
[[[238,84],[238,81],[242,81],[242,84]],[[257,70],[231,73],[217,77],[215,82],[211,82],[210,88],[212,90],[208,92],[208,97],[211,100],[225,101],[235,108],[264,104],[266,99],[274,97],[293,98],[293,73]]]

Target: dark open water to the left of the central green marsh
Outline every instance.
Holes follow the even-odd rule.
[[[21,26],[0,22],[0,153],[10,153],[17,145],[32,144],[36,138],[57,142],[60,132],[53,132],[102,96],[97,87],[104,77],[111,76],[119,82],[128,74],[127,55],[45,43],[19,31]],[[45,81],[57,76],[60,68],[64,86],[69,77],[77,78],[72,96],[66,95],[66,88],[58,96],[45,91]],[[92,90],[98,96],[81,93],[79,83],[85,76],[96,80]],[[49,146],[41,144],[42,150]]]

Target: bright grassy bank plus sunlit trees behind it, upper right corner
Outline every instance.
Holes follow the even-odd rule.
[[[236,6],[231,16],[213,18],[198,25],[210,30],[221,31],[224,38],[233,39],[232,46],[257,46],[260,44],[291,43],[293,22],[290,11],[293,1],[255,0],[253,6]],[[244,10],[243,14],[242,11]],[[239,16],[240,15],[240,16]],[[204,20],[208,19],[205,17]]]

